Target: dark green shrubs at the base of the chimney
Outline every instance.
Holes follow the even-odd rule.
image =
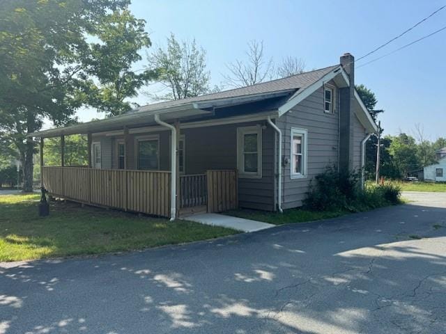
[[[360,189],[359,173],[342,173],[330,167],[314,178],[305,200],[316,211],[361,212],[400,202],[401,189],[394,184],[367,184]]]

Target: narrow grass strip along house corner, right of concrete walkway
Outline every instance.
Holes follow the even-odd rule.
[[[307,221],[318,221],[321,219],[336,218],[348,214],[347,211],[324,211],[315,212],[305,209],[288,209],[283,214],[279,212],[263,212],[260,210],[238,209],[224,212],[228,216],[252,219],[254,221],[263,221],[274,225],[283,225],[288,223],[305,223]]]

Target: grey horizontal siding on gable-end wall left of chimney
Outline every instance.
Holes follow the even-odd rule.
[[[307,196],[309,182],[323,173],[327,166],[337,165],[339,159],[339,92],[336,91],[334,113],[323,109],[323,88],[319,88],[289,113],[279,118],[277,125],[282,129],[284,156],[291,159],[291,129],[307,129],[307,175],[291,178],[291,161],[283,170],[283,203],[288,209],[302,205]]]

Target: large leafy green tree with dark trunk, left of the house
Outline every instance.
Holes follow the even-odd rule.
[[[31,191],[36,148],[26,135],[39,130],[45,118],[66,125],[86,104],[109,113],[112,108],[118,113],[128,110],[124,98],[134,94],[134,82],[141,79],[129,64],[137,59],[134,53],[150,43],[141,31],[144,22],[126,10],[129,2],[2,1],[0,130],[20,154],[24,191]],[[130,37],[124,31],[130,31]],[[120,48],[127,37],[132,47],[124,43]]]

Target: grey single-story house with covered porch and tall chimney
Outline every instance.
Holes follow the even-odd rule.
[[[45,166],[45,187],[171,218],[298,207],[328,166],[364,166],[376,125],[354,88],[353,64],[344,54],[339,65],[31,134],[89,137],[90,168]]]

